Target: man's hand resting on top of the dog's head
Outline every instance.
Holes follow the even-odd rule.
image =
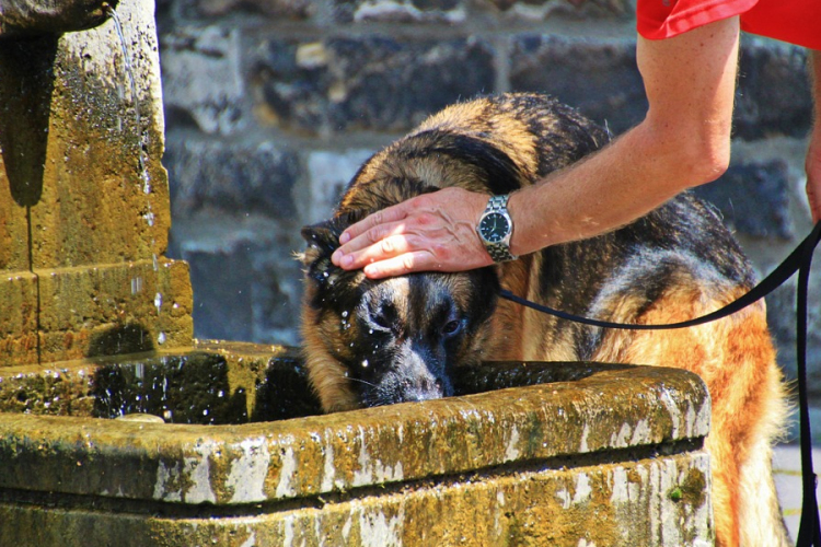
[[[462,188],[423,194],[350,225],[331,257],[371,279],[412,271],[464,271],[493,264],[476,233],[488,196]]]

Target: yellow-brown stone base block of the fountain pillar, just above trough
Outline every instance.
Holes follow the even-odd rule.
[[[158,258],[24,272],[0,281],[0,366],[188,346],[188,265]]]

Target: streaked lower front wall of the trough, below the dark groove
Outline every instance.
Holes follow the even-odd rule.
[[[177,519],[3,503],[3,545],[713,545],[709,458],[695,451],[624,464],[428,481],[291,511]],[[210,508],[209,508],[210,509]],[[209,513],[211,514],[211,513]]]

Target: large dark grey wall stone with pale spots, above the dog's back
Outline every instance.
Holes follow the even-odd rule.
[[[404,131],[495,82],[492,47],[479,39],[366,36],[270,40],[259,49],[254,80],[268,118],[310,133]]]

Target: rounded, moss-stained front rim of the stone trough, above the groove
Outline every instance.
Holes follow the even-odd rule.
[[[0,414],[0,488],[234,505],[656,447],[708,431],[701,380],[661,368],[243,426]],[[79,464],[79,465],[78,465]],[[239,485],[245,485],[240,489]]]

